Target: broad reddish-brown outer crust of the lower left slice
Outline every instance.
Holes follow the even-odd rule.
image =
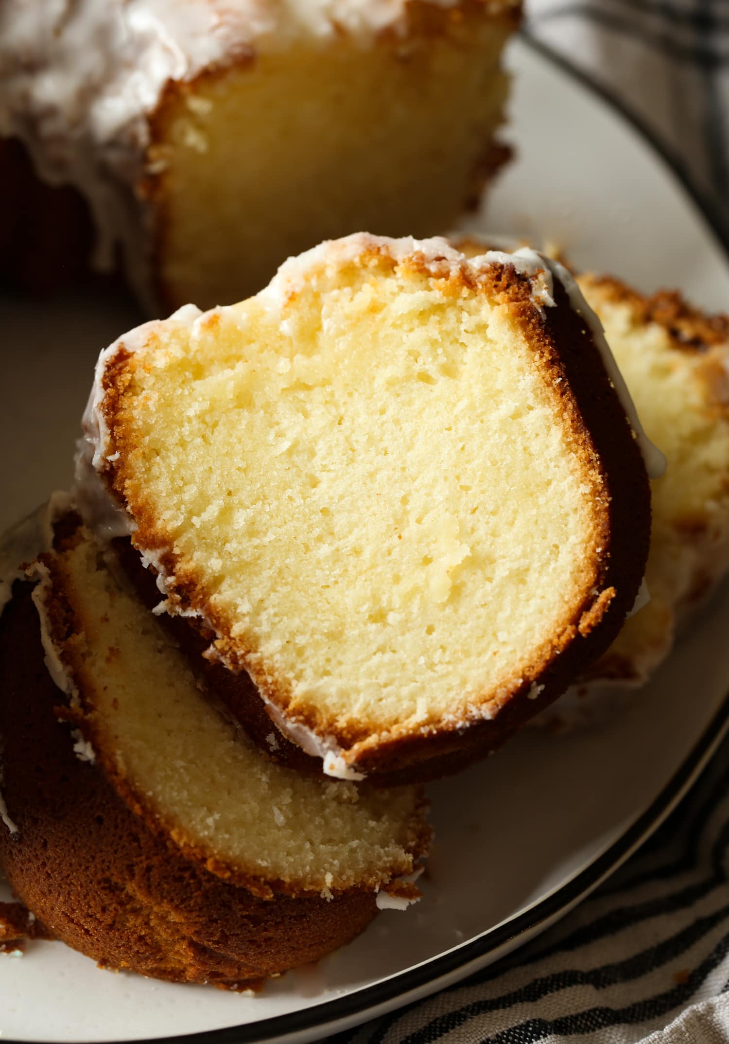
[[[2,793],[19,828],[0,824],[0,864],[54,938],[103,967],[244,989],[319,959],[374,917],[371,892],[264,899],[155,835],[75,757],[27,584],[0,619],[0,673]]]

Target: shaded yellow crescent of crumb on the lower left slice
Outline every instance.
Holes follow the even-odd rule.
[[[266,760],[202,697],[183,655],[118,587],[88,533],[59,568],[81,622],[69,640],[82,658],[76,682],[100,743],[178,843],[298,889],[375,887],[412,871],[423,831],[416,788],[358,789]]]

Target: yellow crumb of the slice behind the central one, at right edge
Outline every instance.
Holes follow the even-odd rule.
[[[626,622],[593,668],[597,674],[632,671],[645,681],[670,648],[676,618],[727,564],[726,348],[719,360],[716,349],[680,349],[661,324],[646,322],[630,300],[614,300],[600,280],[584,277],[580,285],[605,327],[649,437],[667,458],[665,475],[651,483],[651,601]]]

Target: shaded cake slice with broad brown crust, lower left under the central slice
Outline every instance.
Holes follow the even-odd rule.
[[[428,847],[417,788],[266,760],[77,517],[35,574],[0,620],[0,865],[46,934],[110,968],[240,989],[418,896],[398,880]]]

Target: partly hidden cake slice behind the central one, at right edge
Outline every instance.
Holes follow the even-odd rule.
[[[484,250],[477,238],[457,245],[468,256]],[[652,480],[649,598],[559,705],[534,719],[560,727],[599,719],[597,704],[609,712],[616,686],[645,684],[729,566],[729,317],[676,291],[645,296],[611,277],[577,279],[667,468]]]

